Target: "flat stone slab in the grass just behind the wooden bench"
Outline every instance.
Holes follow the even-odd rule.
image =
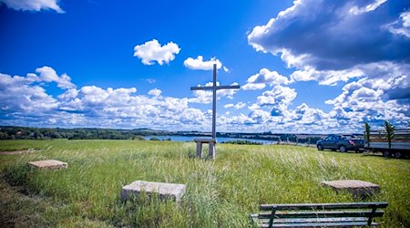
[[[333,188],[336,192],[351,192],[354,196],[369,196],[380,191],[379,185],[359,180],[322,181],[321,184]]]

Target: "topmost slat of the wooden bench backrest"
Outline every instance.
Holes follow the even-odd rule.
[[[386,208],[387,202],[348,202],[348,203],[302,203],[302,204],[261,204],[261,211],[275,210],[327,210],[356,208]]]

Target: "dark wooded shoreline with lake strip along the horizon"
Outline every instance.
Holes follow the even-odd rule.
[[[217,132],[218,139],[254,140],[279,143],[304,143],[313,144],[325,137],[325,134],[293,134],[272,133],[271,131],[259,133],[247,132]],[[30,128],[16,126],[0,126],[0,140],[147,140],[147,137],[174,139],[210,137],[210,133],[201,131],[169,131],[169,130],[113,130],[96,128],[60,129],[60,128]],[[171,139],[172,140],[172,139]]]

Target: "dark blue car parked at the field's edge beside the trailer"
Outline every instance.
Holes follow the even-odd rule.
[[[317,150],[330,149],[347,152],[356,152],[364,149],[364,140],[357,134],[354,135],[329,135],[324,140],[316,142]]]

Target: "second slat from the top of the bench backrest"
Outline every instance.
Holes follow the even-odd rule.
[[[261,212],[259,214],[260,219],[281,219],[281,218],[326,218],[326,217],[378,217],[383,216],[383,211],[331,211],[331,212],[276,212],[272,214],[270,212]]]

